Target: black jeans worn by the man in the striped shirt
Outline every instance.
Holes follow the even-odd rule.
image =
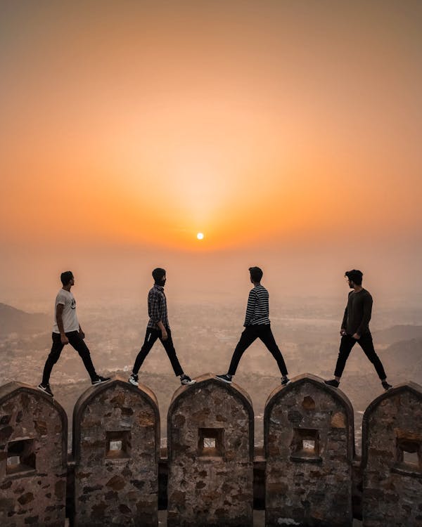
[[[281,375],[287,375],[286,364],[284,363],[279,346],[276,344],[270,324],[257,324],[245,327],[245,330],[241,334],[241,339],[238,341],[236,349],[234,350],[233,357],[231,358],[228,372],[229,375],[234,375],[236,373],[238,363],[241,360],[243,353],[245,353],[246,349],[248,349],[250,344],[256,339],[261,339],[265,346],[267,346],[268,351],[276,359],[277,364],[279,365]]]

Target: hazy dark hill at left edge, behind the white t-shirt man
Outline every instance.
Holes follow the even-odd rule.
[[[41,333],[50,329],[51,317],[44,313],[25,313],[0,303],[0,335]]]

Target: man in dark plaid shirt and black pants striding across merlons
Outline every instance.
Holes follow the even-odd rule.
[[[191,377],[184,374],[179,359],[177,358],[176,350],[174,349],[172,332],[170,331],[169,319],[167,317],[167,301],[164,294],[165,269],[160,267],[154,269],[153,279],[154,285],[148,292],[149,320],[146,327],[145,340],[143,341],[141,351],[139,351],[136,357],[129,382],[134,386],[138,386],[139,369],[151,351],[155,341],[160,339],[168,358],[170,358],[170,363],[172,363],[174,375],[180,376],[181,384],[195,384],[195,381]]]

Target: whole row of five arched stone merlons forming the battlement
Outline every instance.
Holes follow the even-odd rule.
[[[147,386],[120,377],[84,391],[72,455],[62,406],[32,386],[0,387],[0,525],[26,527],[422,527],[422,386],[400,384],[366,409],[354,453],[345,393],[305,374],[269,394],[264,449],[248,393],[211,374],[175,393],[160,456],[160,413]],[[164,499],[162,495],[164,494]],[[167,500],[165,500],[167,495]]]

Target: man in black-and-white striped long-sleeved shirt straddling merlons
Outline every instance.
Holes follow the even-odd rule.
[[[245,316],[245,330],[241,334],[241,339],[238,341],[229,371],[223,375],[216,375],[215,377],[220,381],[231,384],[231,379],[236,373],[238,363],[241,360],[243,353],[248,349],[250,344],[256,339],[261,339],[267,346],[268,351],[276,359],[281,372],[281,384],[286,385],[290,380],[287,375],[286,364],[283,356],[274,339],[269,322],[269,294],[267,289],[261,285],[262,270],[259,267],[250,267],[250,281],[253,284],[253,289],[249,292],[248,306],[246,307]]]

